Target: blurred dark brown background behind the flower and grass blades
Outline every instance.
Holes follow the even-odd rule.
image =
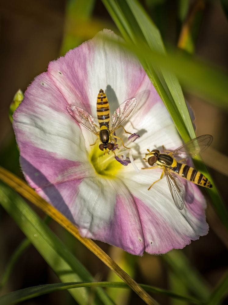
[[[151,13],[152,18],[161,30],[165,42],[176,45],[180,30],[180,22],[178,22],[176,16],[177,1],[172,1],[172,4],[168,0],[157,2],[158,5],[154,6],[149,5],[150,1],[145,1],[143,4],[147,6],[148,13]],[[65,28],[65,7],[66,1],[63,0],[0,2],[0,164],[20,176],[22,174],[18,164],[18,152],[14,142],[12,125],[8,118],[9,104],[19,88],[25,91],[34,77],[46,70],[48,62],[59,56]],[[99,23],[100,12],[102,12],[102,24]],[[115,25],[112,23],[109,14],[105,12],[102,3],[96,1],[91,17],[92,22],[96,24],[98,31],[102,30],[105,25],[111,26],[115,30]],[[79,40],[89,39],[93,34],[93,31],[81,34]],[[219,2],[205,3],[196,41],[196,54],[227,72],[228,23]],[[227,112],[219,110],[190,93],[185,96],[195,114],[197,135],[211,134],[214,137],[212,150],[209,151],[208,149],[208,153],[205,153],[205,160],[210,164],[211,173],[217,182],[224,201],[227,202],[228,170],[226,171],[226,169],[228,164],[227,157],[225,157],[228,149]],[[222,155],[218,155],[218,152]],[[220,162],[220,171],[224,174],[213,169],[217,165],[217,161]],[[41,212],[37,212],[43,217]],[[0,213],[1,275],[13,250],[24,237],[20,229],[2,208],[0,208]],[[208,218],[211,227],[209,234],[201,237],[198,241],[192,242],[184,249],[191,262],[212,287],[227,268],[227,244],[225,246],[224,242],[220,240],[222,238],[226,242],[227,233],[224,232],[223,227],[219,225],[218,220],[213,215],[213,212],[210,213]],[[107,279],[109,270],[103,263],[79,242],[72,239],[69,234],[62,231],[58,225],[52,223],[51,227],[60,237],[62,236],[67,245],[97,280]],[[126,256],[128,260],[133,260],[136,281],[170,288],[170,275],[167,275],[166,266],[159,256],[145,254],[143,258],[138,258],[101,242],[99,242],[99,245],[115,260],[122,256]],[[16,264],[5,288],[5,293],[33,285],[54,282],[58,282],[58,278],[34,247],[30,246]],[[141,300],[135,294],[131,294],[131,296],[126,294],[125,297],[128,304],[141,304]],[[155,297],[161,304],[182,304],[177,300],[168,303],[164,296],[156,295]],[[74,300],[67,291],[62,291],[29,300],[23,304],[41,303],[74,304]],[[224,304],[226,304],[226,301],[224,301]]]

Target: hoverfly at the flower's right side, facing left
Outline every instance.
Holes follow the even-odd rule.
[[[173,201],[175,202],[178,209],[182,210],[184,206],[184,190],[182,183],[178,176],[173,175],[173,173],[191,181],[195,184],[201,185],[203,187],[212,188],[212,184],[210,181],[196,169],[181,163],[185,158],[194,157],[205,149],[211,144],[213,137],[210,135],[199,136],[183,146],[177,148],[174,151],[169,151],[169,153],[160,153],[159,150],[153,149],[150,151],[149,149],[148,154],[145,154],[144,160],[148,162],[148,164],[152,167],[147,167],[143,169],[153,169],[153,168],[161,168],[162,174],[160,179],[156,180],[148,190],[162,177],[166,176],[166,180],[169,186],[169,190],[173,197]],[[165,151],[168,152],[168,151]],[[173,155],[180,155],[183,159],[176,161]],[[155,166],[153,166],[155,165]]]

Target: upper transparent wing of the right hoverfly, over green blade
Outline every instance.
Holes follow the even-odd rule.
[[[210,135],[198,136],[197,138],[187,142],[183,146],[172,151],[172,155],[179,154],[183,158],[195,157],[202,151],[208,148],[211,144],[213,137]]]

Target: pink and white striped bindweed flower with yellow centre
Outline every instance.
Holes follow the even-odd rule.
[[[111,31],[105,34],[119,39]],[[136,106],[124,122],[135,133],[113,154],[104,155],[95,136],[68,113],[69,104],[96,118],[96,97],[103,88],[110,113],[135,97]],[[205,199],[186,180],[185,207],[176,208],[160,170],[138,170],[148,147],[174,150],[182,143],[147,74],[128,53],[113,48],[103,34],[52,61],[37,76],[14,114],[13,127],[26,180],[41,197],[77,225],[84,237],[107,242],[136,255],[180,249],[207,234]],[[137,134],[140,138],[134,143]],[[118,153],[120,152],[120,153]],[[121,161],[121,162],[120,162]],[[123,165],[121,163],[126,162]]]

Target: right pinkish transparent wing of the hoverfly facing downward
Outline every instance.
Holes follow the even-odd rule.
[[[123,124],[124,120],[129,116],[131,111],[134,109],[136,104],[136,98],[133,97],[130,100],[124,101],[114,111],[111,118],[110,130],[115,131],[120,125]]]

